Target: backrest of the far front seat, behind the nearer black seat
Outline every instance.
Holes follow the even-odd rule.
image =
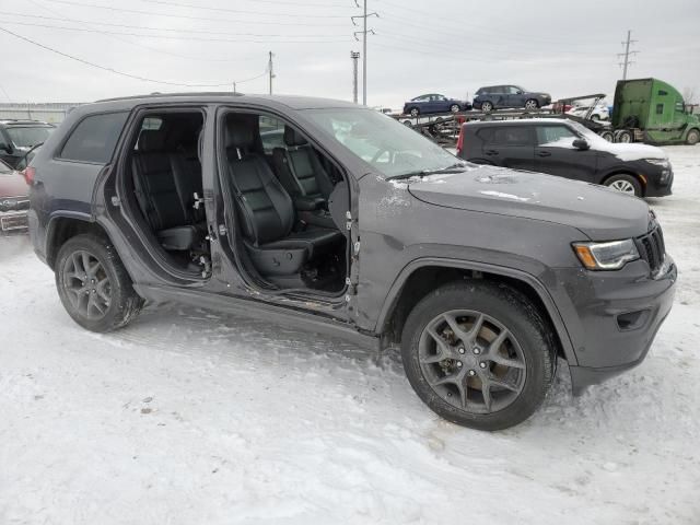
[[[284,126],[284,144],[272,150],[272,162],[296,209],[325,207],[334,184],[312,147],[290,126]]]

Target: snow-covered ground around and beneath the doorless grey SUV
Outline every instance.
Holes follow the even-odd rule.
[[[0,238],[0,524],[700,523],[700,147],[655,199],[680,278],[638,369],[488,434],[381,359],[170,305],[95,335]]]

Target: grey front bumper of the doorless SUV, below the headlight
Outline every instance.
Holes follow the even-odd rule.
[[[666,255],[654,278],[643,260],[618,271],[557,273],[576,357],[570,363],[574,394],[641,363],[673,305],[678,275],[673,259]]]

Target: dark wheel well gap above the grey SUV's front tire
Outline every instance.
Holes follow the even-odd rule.
[[[404,325],[411,310],[418,302],[433,290],[454,281],[483,279],[495,283],[505,284],[517,290],[525,295],[537,308],[550,334],[553,334],[553,340],[557,347],[557,354],[564,358],[562,343],[559,334],[555,329],[553,323],[535,289],[525,281],[512,277],[500,276],[476,270],[462,270],[457,268],[444,268],[436,266],[427,266],[419,268],[404,283],[399,296],[395,300],[393,310],[388,315],[383,334],[389,343],[400,343]]]

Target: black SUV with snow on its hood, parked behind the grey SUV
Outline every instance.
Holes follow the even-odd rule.
[[[548,173],[638,197],[670,195],[674,182],[662,149],[614,144],[567,119],[468,122],[462,127],[457,154],[477,164]]]

